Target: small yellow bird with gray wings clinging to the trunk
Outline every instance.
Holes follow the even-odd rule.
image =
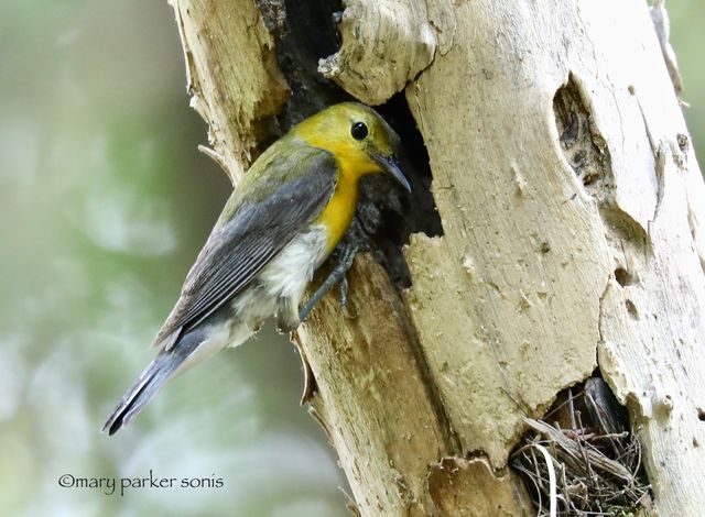
[[[383,174],[411,190],[401,148],[384,119],[358,102],[330,106],[270,145],[227,200],[154,338],[154,360],[102,430],[111,436],[126,427],[167,381],[243,343],[267,318],[274,316],[281,332],[295,330],[327,290],[345,282],[358,249],[344,235],[360,179]],[[338,245],[338,265],[300,308],[314,272]]]

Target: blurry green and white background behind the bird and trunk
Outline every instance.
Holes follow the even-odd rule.
[[[127,432],[99,432],[230,186],[196,151],[206,128],[165,1],[1,7],[0,515],[348,515],[299,406],[299,359],[271,330],[177,378]],[[705,4],[669,8],[702,153]],[[57,484],[150,469],[224,486],[120,497]]]

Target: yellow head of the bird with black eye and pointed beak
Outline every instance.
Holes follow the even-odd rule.
[[[365,105],[332,106],[304,120],[292,132],[310,145],[329,151],[346,174],[360,177],[387,173],[411,190],[399,166],[399,135]]]

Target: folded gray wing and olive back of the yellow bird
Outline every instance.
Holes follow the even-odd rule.
[[[154,344],[170,349],[183,329],[194,328],[247,287],[325,208],[336,169],[330,153],[297,146],[250,170],[188,272]],[[258,176],[247,178],[250,174]]]

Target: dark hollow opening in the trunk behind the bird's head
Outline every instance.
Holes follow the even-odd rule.
[[[268,145],[295,123],[327,106],[356,100],[337,84],[318,73],[318,61],[340,45],[337,22],[339,0],[257,0],[276,44],[276,59],[291,88],[291,98],[268,124]],[[395,188],[381,175],[362,180],[358,211],[348,238],[362,240],[389,273],[398,288],[411,284],[402,253],[412,233],[430,237],[443,233],[441,218],[431,195],[431,167],[423,138],[416,128],[403,92],[375,107],[402,140],[402,168],[412,193]]]

